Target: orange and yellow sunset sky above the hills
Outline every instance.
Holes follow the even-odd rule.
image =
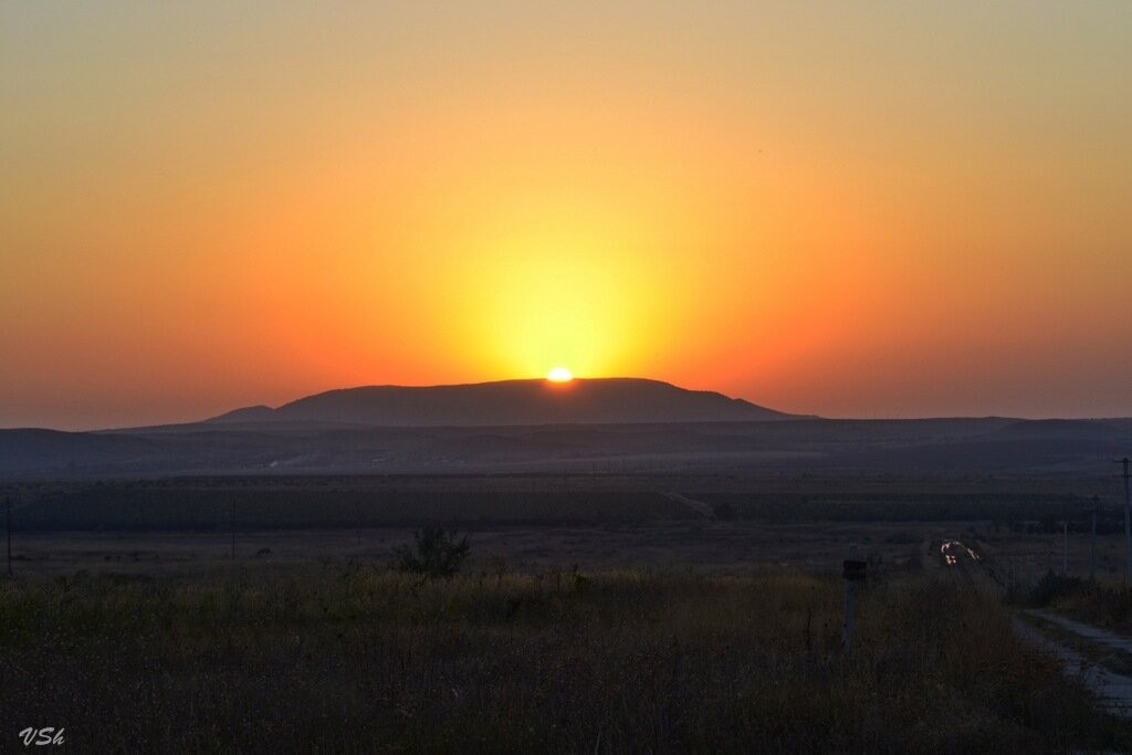
[[[0,427],[1132,415],[1132,3],[2,2]]]

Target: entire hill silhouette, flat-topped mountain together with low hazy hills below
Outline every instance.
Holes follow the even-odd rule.
[[[0,430],[0,474],[1109,473],[1132,419],[826,420],[635,378],[331,391],[188,424]]]

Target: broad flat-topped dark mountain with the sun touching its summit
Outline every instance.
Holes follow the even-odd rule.
[[[299,398],[278,409],[248,406],[212,424],[334,422],[386,427],[504,427],[741,422],[804,419],[643,378],[576,378],[569,383],[500,380],[466,385],[363,386]]]

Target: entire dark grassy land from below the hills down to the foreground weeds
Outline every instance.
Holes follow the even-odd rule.
[[[63,727],[65,746],[100,753],[1129,750],[1129,724],[1020,644],[986,577],[1037,584],[1083,488],[19,483],[16,578],[0,582],[0,750],[25,727]],[[1105,575],[1122,555],[1110,518]],[[430,522],[471,538],[451,581],[388,566]],[[953,538],[981,554],[979,578],[944,566]],[[1088,546],[1075,526],[1072,573]],[[849,653],[844,558],[871,564]],[[1088,595],[1050,600],[1083,610]]]

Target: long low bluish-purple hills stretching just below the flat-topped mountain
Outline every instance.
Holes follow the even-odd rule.
[[[1132,419],[797,418],[383,427],[291,420],[288,412],[277,412],[254,407],[224,421],[97,432],[0,430],[0,477],[592,474],[602,470],[963,479],[1040,474],[1080,475],[1092,480],[1084,488],[1091,489],[1098,477],[1112,474],[1110,460],[1132,451]],[[264,419],[275,417],[280,420]]]

